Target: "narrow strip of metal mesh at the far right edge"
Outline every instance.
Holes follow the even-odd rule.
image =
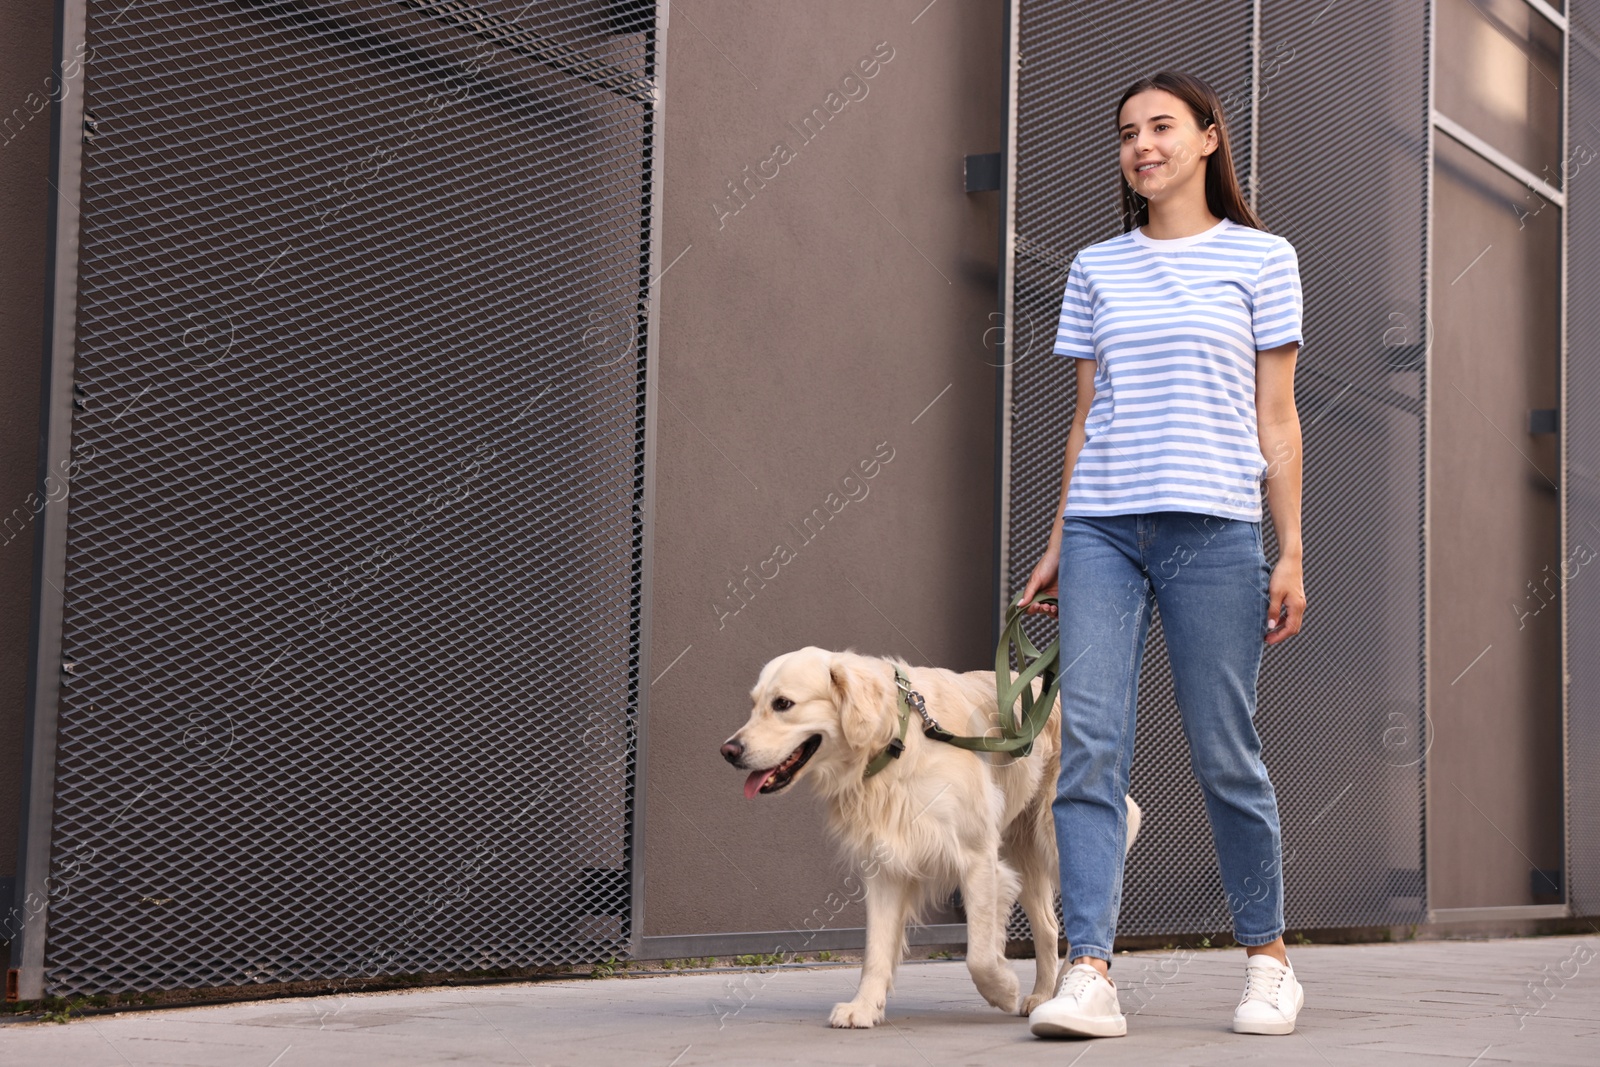
[[[1600,550],[1600,189],[1589,168],[1600,115],[1600,11],[1571,5],[1568,109],[1573,138],[1566,186],[1566,530],[1578,545]],[[1579,146],[1582,155],[1579,155]],[[1576,171],[1573,168],[1578,168]],[[1582,557],[1579,557],[1582,558]],[[1582,571],[1566,584],[1570,672],[1566,717],[1568,902],[1576,915],[1600,915],[1600,589]]]

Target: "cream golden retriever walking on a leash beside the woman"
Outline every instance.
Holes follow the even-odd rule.
[[[896,665],[944,729],[1000,736],[992,670],[958,673],[806,646],[762,667],[750,689],[750,717],[723,742],[722,755],[750,771],[746,797],[808,781],[827,803],[829,837],[866,875],[861,984],[854,1000],[834,1005],[830,1025],[883,1021],[906,953],[906,923],[920,921],[931,902],[955,888],[966,910],[966,969],[978,992],[995,1008],[1026,1016],[1054,995],[1061,968],[1054,910],[1061,870],[1051,814],[1061,774],[1061,702],[1021,758],[925,737],[912,710],[904,752],[862,777],[899,728]],[[1040,689],[1035,680],[1034,693]],[[1130,797],[1130,848],[1138,832],[1139,806]],[[1018,899],[1035,952],[1034,992],[1021,1000],[1005,958],[1005,928]]]

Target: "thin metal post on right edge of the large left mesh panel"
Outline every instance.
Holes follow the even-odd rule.
[[[658,325],[661,322],[661,293],[656,288],[661,275],[656,264],[661,256],[662,216],[666,214],[661,197],[661,178],[666,173],[666,147],[662,133],[666,131],[666,86],[667,86],[667,16],[672,0],[656,0],[656,42],[654,42],[654,96],[650,107],[650,232],[645,242],[645,256],[640,269],[645,275],[645,374],[642,387],[645,390],[645,430],[643,430],[643,486],[640,490],[640,558],[638,558],[638,697],[634,710],[634,798],[632,824],[627,832],[627,867],[632,878],[629,901],[629,955],[643,958],[645,952],[645,734],[646,707],[650,705],[650,619],[651,598],[650,581],[653,573],[653,539],[656,514],[656,387],[661,382],[661,371],[656,368],[656,357],[661,352]]]

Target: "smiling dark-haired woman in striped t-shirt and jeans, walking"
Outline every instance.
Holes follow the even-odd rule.
[[[1160,606],[1190,766],[1245,947],[1240,1033],[1290,1033],[1304,995],[1283,947],[1277,798],[1253,717],[1262,645],[1299,632],[1301,434],[1294,248],[1238,190],[1222,106],[1200,78],[1141,78],[1117,109],[1125,232],[1078,251],[1054,352],[1077,360],[1050,544],[1027,611],[1059,597],[1056,790],[1070,966],[1029,1016],[1042,1037],[1117,1037],[1109,977],[1123,797],[1150,609]],[[1261,485],[1278,534],[1261,547]],[[1059,589],[1059,592],[1058,592]]]

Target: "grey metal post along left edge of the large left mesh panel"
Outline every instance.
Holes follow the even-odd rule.
[[[56,5],[56,72],[85,40],[86,0]],[[72,366],[78,302],[78,195],[83,155],[83,93],[62,93],[51,109],[50,246],[45,285],[45,360],[40,373],[38,499],[34,530],[34,619],[29,635],[27,728],[22,741],[22,811],[16,897],[21,920],[11,941],[6,998],[38,1000],[45,985],[45,928],[50,912],[50,830],[54,811],[56,709],[61,694],[62,579],[67,569],[67,502],[72,496]],[[67,493],[51,501],[54,474]]]

